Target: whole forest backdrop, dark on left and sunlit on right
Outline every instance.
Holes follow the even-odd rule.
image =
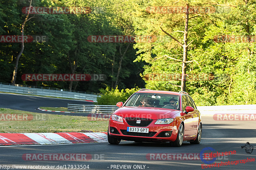
[[[255,0],[0,0],[0,82],[114,95],[183,90],[197,105],[255,104],[255,9]]]

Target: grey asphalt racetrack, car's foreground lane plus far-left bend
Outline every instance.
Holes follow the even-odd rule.
[[[0,107],[3,107],[2,94]],[[5,96],[6,97],[6,96]],[[36,103],[34,100],[40,100],[37,97],[23,98],[27,100],[27,104],[22,102],[19,103],[16,100],[16,105],[12,104],[12,107],[19,109],[25,108],[25,106]],[[17,99],[15,97],[15,99]],[[30,100],[30,101],[29,101]],[[42,102],[43,99],[41,99]],[[59,99],[56,99],[56,103]],[[54,99],[51,101],[52,107],[63,107],[53,106],[55,103]],[[13,102],[13,101],[12,101]],[[31,102],[31,103],[30,103]],[[46,104],[46,103],[45,103]],[[10,106],[10,104],[9,104]],[[44,105],[46,106],[46,105]],[[48,105],[47,105],[48,106]],[[31,106],[30,108],[35,108]],[[108,143],[89,143],[89,144],[73,144],[73,145],[38,145],[38,146],[1,146],[0,147],[0,168],[3,165],[8,166],[63,166],[66,165],[89,165],[89,169],[119,169],[122,165],[131,165],[130,169],[202,169],[201,160],[148,160],[146,155],[149,153],[200,153],[205,147],[212,147],[215,149],[213,152],[229,152],[236,151],[236,154],[228,155],[225,159],[215,160],[214,163],[236,161],[247,158],[256,159],[256,125],[255,121],[215,121],[212,116],[203,116],[203,131],[202,141],[199,145],[191,145],[189,142],[183,142],[181,147],[170,147],[168,143],[156,144],[156,143],[135,143],[132,141],[121,141],[119,145],[110,145]],[[250,142],[254,146],[252,153],[246,153],[244,146],[246,142]],[[206,152],[212,152],[207,150]],[[91,154],[92,159],[90,160],[23,160],[23,154],[33,153],[86,153]],[[97,159],[101,154],[101,159]],[[96,156],[95,156],[96,155]],[[96,159],[94,159],[96,157]],[[156,157],[155,157],[156,158]],[[166,157],[165,157],[166,158]],[[161,158],[160,158],[161,159]],[[115,166],[114,165],[120,165]],[[136,165],[142,165],[142,168],[135,167]],[[144,166],[145,167],[144,167]],[[218,165],[218,164],[217,164]],[[126,166],[125,166],[126,167]],[[135,168],[134,168],[135,167]],[[208,167],[207,169],[255,169],[256,161],[246,162],[235,165],[225,165],[220,167]],[[26,168],[21,168],[26,169]],[[29,169],[29,168],[27,168]],[[40,169],[40,168],[37,168]],[[60,168],[58,168],[60,169]],[[65,169],[65,167],[63,168]],[[71,167],[69,167],[71,169]],[[74,169],[74,166],[73,166]],[[125,168],[122,168],[125,169]],[[204,167],[204,169],[206,169]]]

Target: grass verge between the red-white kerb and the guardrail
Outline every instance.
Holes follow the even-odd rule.
[[[60,110],[58,110],[60,111]],[[31,114],[36,120],[6,120],[6,114]],[[40,118],[41,117],[41,118]],[[43,117],[43,119],[42,119]],[[108,121],[90,121],[83,116],[64,116],[0,108],[0,133],[107,132]]]

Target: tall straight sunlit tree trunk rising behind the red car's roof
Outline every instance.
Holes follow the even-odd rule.
[[[181,91],[186,91],[186,71],[187,71],[187,58],[188,58],[188,4],[186,4],[186,17],[185,17],[185,29],[183,37],[183,61],[181,72]]]

